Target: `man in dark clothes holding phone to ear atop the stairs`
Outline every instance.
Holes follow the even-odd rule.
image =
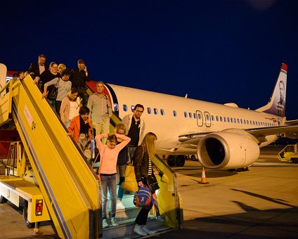
[[[89,95],[86,92],[86,82],[89,82],[89,72],[85,65],[84,60],[77,60],[77,68],[72,69],[70,73],[70,82],[72,82],[72,87],[77,89],[79,97],[82,98],[82,105],[86,106],[88,102]]]

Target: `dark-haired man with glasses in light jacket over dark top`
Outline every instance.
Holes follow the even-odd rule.
[[[131,138],[128,146],[129,164],[131,164],[132,157],[134,157],[134,150],[143,141],[145,131],[145,122],[141,119],[143,112],[143,105],[136,104],[134,106],[134,114],[125,115],[122,119],[122,124],[127,129],[126,135]]]

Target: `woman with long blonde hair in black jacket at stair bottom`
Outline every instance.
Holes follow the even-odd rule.
[[[155,141],[157,136],[152,132],[149,132],[143,138],[141,146],[136,148],[134,152],[133,165],[134,172],[136,174],[136,181],[138,186],[148,186],[148,176],[155,177],[154,169],[155,165],[150,158],[155,157]],[[156,181],[156,179],[155,179]],[[149,186],[148,186],[149,187]],[[154,193],[154,191],[153,191]],[[136,217],[136,225],[134,226],[134,232],[138,235],[153,234],[148,228],[145,227],[150,209],[142,208]]]

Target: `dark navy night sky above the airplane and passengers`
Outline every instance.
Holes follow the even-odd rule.
[[[237,103],[268,103],[287,63],[287,120],[298,119],[298,2],[2,1],[0,62],[27,70],[40,53],[91,79]]]

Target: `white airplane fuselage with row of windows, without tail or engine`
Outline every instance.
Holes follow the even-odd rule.
[[[246,110],[237,106],[197,101],[113,84],[108,85],[116,96],[114,99],[111,98],[112,105],[114,105],[113,110],[117,104],[121,119],[124,115],[132,114],[131,109],[137,103],[144,106],[142,118],[145,120],[145,133],[152,131],[157,135],[158,154],[195,153],[196,146],[179,141],[179,136],[183,134],[273,127],[278,126],[281,120],[276,115]],[[266,143],[262,143],[261,146],[272,143],[276,138],[276,135],[267,136]]]

